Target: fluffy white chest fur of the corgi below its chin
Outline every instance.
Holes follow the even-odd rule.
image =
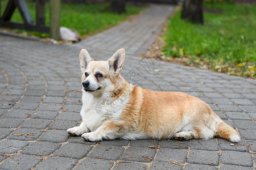
[[[94,97],[87,92],[82,93],[81,117],[90,131],[95,131],[107,121],[119,120],[122,110],[129,102],[130,92],[113,100],[111,95]]]

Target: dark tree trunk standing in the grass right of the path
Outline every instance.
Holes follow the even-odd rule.
[[[192,23],[204,24],[203,0],[184,0],[181,18]]]

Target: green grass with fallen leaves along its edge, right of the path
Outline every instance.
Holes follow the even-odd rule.
[[[166,56],[186,58],[187,65],[256,78],[256,6],[205,4],[204,25],[169,20]],[[207,65],[207,66],[205,66]]]

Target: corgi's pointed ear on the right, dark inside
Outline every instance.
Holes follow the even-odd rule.
[[[110,72],[119,74],[125,64],[125,49],[121,48],[108,59]]]

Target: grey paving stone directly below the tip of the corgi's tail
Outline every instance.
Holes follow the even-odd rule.
[[[218,139],[218,146],[220,146],[221,150],[232,150],[232,151],[248,151],[246,143],[240,141],[238,143],[232,143],[225,139]]]

